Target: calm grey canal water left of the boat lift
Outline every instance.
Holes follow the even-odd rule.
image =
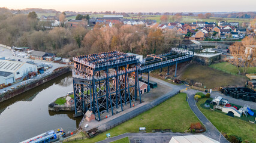
[[[74,111],[48,111],[55,98],[73,91],[71,73],[63,74],[30,91],[0,103],[0,142],[21,142],[48,130],[76,130]]]

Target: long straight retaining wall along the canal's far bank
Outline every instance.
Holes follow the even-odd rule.
[[[47,75],[46,77],[43,77],[43,79],[35,80],[34,82],[31,82],[27,85],[19,86],[19,88],[13,89],[11,91],[5,92],[4,94],[0,94],[0,102],[3,102],[5,100],[8,100],[10,98],[15,97],[16,95],[22,94],[23,92],[29,91],[32,88],[35,88],[43,83],[48,82],[49,80],[54,79],[55,77],[61,76],[64,73],[67,73],[70,71],[70,67],[64,67],[63,69],[60,69],[58,71],[53,72],[50,75]]]

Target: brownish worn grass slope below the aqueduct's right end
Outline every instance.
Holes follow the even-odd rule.
[[[180,76],[182,80],[192,80],[203,83],[203,87],[215,88],[219,86],[245,85],[246,77],[234,76],[224,71],[212,69],[207,66],[191,64]]]

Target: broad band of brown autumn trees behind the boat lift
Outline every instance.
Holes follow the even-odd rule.
[[[63,13],[61,14],[64,15]],[[60,16],[61,16],[60,15]],[[53,52],[61,57],[118,50],[136,54],[159,54],[170,51],[182,41],[176,32],[115,24],[113,27],[87,24],[76,27],[59,26],[47,29],[49,21],[38,21],[35,13],[12,14],[0,9],[0,43],[28,46],[38,51]]]

